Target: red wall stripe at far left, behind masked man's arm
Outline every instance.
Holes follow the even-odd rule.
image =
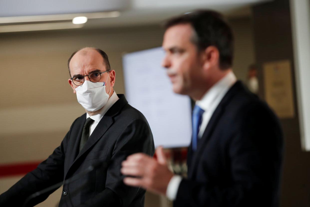
[[[14,164],[0,164],[0,178],[16,175],[25,175],[30,171],[36,169],[41,161],[23,162]]]

